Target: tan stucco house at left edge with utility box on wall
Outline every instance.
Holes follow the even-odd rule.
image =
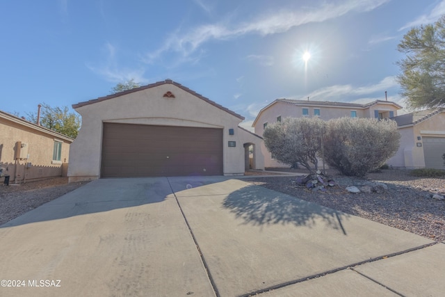
[[[11,183],[67,175],[74,139],[0,111],[1,182]]]

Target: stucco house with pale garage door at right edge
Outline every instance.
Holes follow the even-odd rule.
[[[426,110],[393,118],[401,133],[398,152],[387,161],[394,168],[445,169],[445,110]]]

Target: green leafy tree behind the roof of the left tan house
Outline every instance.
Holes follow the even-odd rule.
[[[37,113],[28,113],[28,120],[37,123]],[[67,106],[51,107],[49,104],[43,103],[40,109],[40,125],[76,138],[81,127],[81,118],[76,113],[70,113]]]

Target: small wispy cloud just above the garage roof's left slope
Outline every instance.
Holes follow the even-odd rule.
[[[106,43],[104,46],[106,63],[102,66],[93,66],[86,63],[86,67],[95,74],[104,77],[106,81],[113,83],[120,83],[122,81],[128,81],[134,79],[137,83],[146,83],[147,79],[144,79],[143,75],[145,70],[142,67],[136,69],[122,68],[118,66],[116,58],[116,48],[111,43]]]

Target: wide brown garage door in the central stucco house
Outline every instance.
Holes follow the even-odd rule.
[[[104,123],[102,177],[223,174],[223,129]]]

